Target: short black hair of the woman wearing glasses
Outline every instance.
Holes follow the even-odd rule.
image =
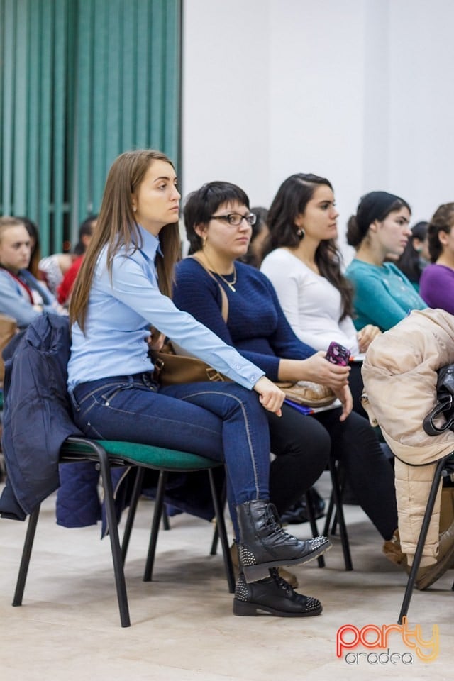
[[[229,201],[238,201],[249,209],[248,194],[231,182],[207,182],[189,194],[183,211],[189,255],[202,247],[202,240],[195,231],[196,226],[208,224],[218,207]]]

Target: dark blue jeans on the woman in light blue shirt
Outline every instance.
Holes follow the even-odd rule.
[[[269,498],[270,435],[257,393],[230,382],[160,387],[145,373],[79,384],[71,399],[74,423],[90,438],[224,461],[237,538],[235,506]]]

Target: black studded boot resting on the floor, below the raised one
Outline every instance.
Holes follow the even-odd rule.
[[[270,570],[270,577],[260,582],[246,582],[240,574],[233,598],[233,614],[255,616],[270,614],[277,617],[312,617],[321,614],[321,602],[298,594],[288,582]]]

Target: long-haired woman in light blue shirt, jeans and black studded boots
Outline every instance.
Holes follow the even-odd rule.
[[[277,575],[279,565],[306,563],[331,546],[326,538],[299,541],[284,532],[269,503],[265,410],[278,418],[284,394],[170,299],[179,198],[175,169],[160,152],[123,153],[109,171],[70,301],[74,421],[89,437],[225,460],[242,570],[233,611],[317,615],[320,602],[297,594]],[[155,384],[145,343],[150,326],[233,383]],[[161,334],[153,333],[151,344],[159,348]]]

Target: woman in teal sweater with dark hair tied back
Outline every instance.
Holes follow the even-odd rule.
[[[356,249],[345,272],[353,284],[355,326],[367,324],[387,331],[411,310],[427,307],[409,279],[389,255],[402,255],[411,231],[409,204],[388,192],[362,196],[356,215],[348,221],[347,241]]]

